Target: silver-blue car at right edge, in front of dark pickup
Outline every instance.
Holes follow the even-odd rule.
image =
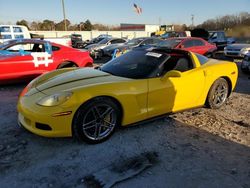
[[[250,52],[250,44],[230,44],[224,48],[225,56],[243,58]]]

